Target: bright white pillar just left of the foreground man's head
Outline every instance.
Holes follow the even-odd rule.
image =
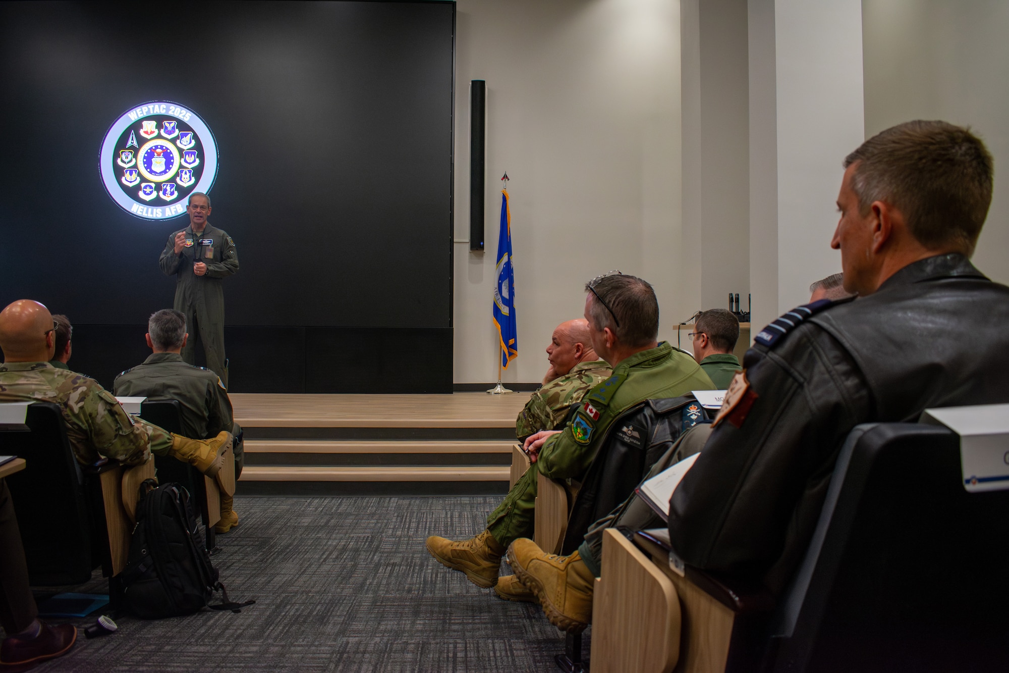
[[[842,162],[865,139],[862,7],[859,0],[749,4],[750,272],[753,322],[764,325],[807,302],[811,282],[840,271],[830,237]]]

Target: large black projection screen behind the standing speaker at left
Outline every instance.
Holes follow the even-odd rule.
[[[418,344],[438,352],[438,368],[447,362],[450,386],[453,31],[447,2],[3,3],[2,300],[68,314],[92,350],[104,348],[99,326],[143,325],[172,305],[175,280],[157,257],[188,218],[131,214],[99,172],[110,126],[165,101],[198,115],[217,146],[211,222],[241,263],[225,280],[234,381],[253,381],[243,345],[316,362],[308,350],[320,339],[374,351],[375,334],[396,344],[398,329],[415,342],[427,329]],[[192,130],[165,130],[170,118],[154,119],[154,139]],[[171,188],[143,188],[151,209],[213,177],[206,140],[175,135],[177,148],[148,148],[143,164],[151,138],[125,147],[132,130],[116,140],[134,153],[116,178],[139,190],[149,171],[173,169]],[[189,173],[187,157],[201,162]],[[312,391],[311,373],[301,376]]]

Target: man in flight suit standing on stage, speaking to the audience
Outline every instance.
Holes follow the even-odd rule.
[[[169,236],[158,264],[165,276],[177,276],[174,308],[186,314],[194,336],[183,348],[183,360],[196,364],[196,335],[200,334],[207,369],[228,385],[224,366],[224,289],[221,279],[238,271],[238,253],[227,232],[210,224],[210,197],[193,192],[186,212],[190,225]]]

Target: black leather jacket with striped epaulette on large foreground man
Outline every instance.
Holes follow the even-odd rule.
[[[669,516],[687,564],[774,592],[809,545],[855,425],[1009,402],[1009,287],[962,255],[915,262],[872,295],[791,322],[747,352],[758,397],[739,427],[714,427]]]

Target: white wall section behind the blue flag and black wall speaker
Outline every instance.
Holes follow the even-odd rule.
[[[496,379],[490,320],[499,186],[512,178],[519,358],[539,381],[586,280],[651,282],[661,338],[698,307],[681,261],[680,30],[675,0],[460,0],[455,230],[469,230],[469,82],[487,83],[486,252],[455,247],[455,381]],[[690,288],[690,289],[687,289]]]

